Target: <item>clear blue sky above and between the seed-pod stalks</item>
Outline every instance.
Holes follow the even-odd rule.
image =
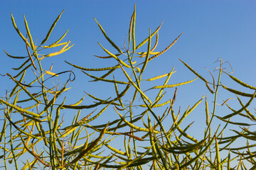
[[[26,35],[23,24],[23,14],[26,15],[28,26],[33,36],[33,41],[40,43],[45,38],[55,18],[63,9],[63,15],[50,35],[49,43],[58,38],[69,29],[64,41],[70,40],[75,45],[62,55],[47,60],[46,67],[53,64],[53,72],[63,72],[72,69],[64,60],[78,64],[81,67],[110,67],[116,62],[114,60],[100,60],[93,55],[106,56],[97,42],[115,52],[95,23],[94,18],[102,25],[107,35],[118,45],[122,46],[125,35],[128,34],[129,21],[134,10],[137,8],[136,36],[137,44],[144,40],[151,31],[155,30],[164,21],[159,31],[159,45],[155,51],[164,50],[181,33],[181,38],[171,49],[148,64],[145,70],[144,79],[155,77],[171,72],[175,67],[176,73],[169,84],[176,84],[182,81],[194,79],[196,76],[191,73],[178,59],[189,64],[196,72],[212,81],[207,67],[211,72],[218,67],[218,58],[228,61],[233,67],[233,76],[247,84],[256,86],[256,1],[0,1],[0,74],[16,74],[11,68],[18,67],[22,62],[7,57],[4,53],[11,55],[26,55],[26,47],[18,36],[11,23],[11,12],[14,15],[16,25],[23,35]],[[154,41],[153,41],[154,42]],[[48,43],[46,43],[48,44]],[[225,64],[228,70],[230,67]],[[106,98],[110,86],[106,84],[90,83],[91,79],[82,74],[79,69],[73,69],[76,79],[70,86],[68,102],[75,103],[86,91],[95,96]],[[213,72],[216,79],[218,72]],[[67,79],[67,75],[61,76]],[[118,77],[118,75],[117,75]],[[121,76],[122,77],[122,76]],[[216,80],[217,81],[217,80]],[[10,90],[14,84],[7,77],[0,77],[0,96],[4,96],[6,90]],[[253,94],[253,91],[243,89],[234,84],[227,76],[223,75],[223,84],[233,89],[242,89]],[[160,81],[160,84],[162,82]],[[145,85],[149,88],[150,85]],[[111,86],[112,88],[112,86]],[[144,90],[146,90],[146,88]],[[113,88],[112,88],[113,89]],[[168,91],[168,98],[172,98],[174,89]],[[229,97],[226,91],[221,90],[218,103]],[[151,92],[149,92],[149,95]],[[208,95],[208,102],[213,101],[211,95],[201,80],[178,88],[176,107],[181,106],[183,110],[188,105],[196,103],[203,95]],[[92,101],[88,98],[85,103]],[[245,102],[248,98],[245,98]],[[235,102],[235,100],[234,100]],[[255,105],[255,103],[253,103]],[[223,106],[224,107],[224,106]],[[218,115],[230,113],[226,108],[218,107]],[[237,106],[236,109],[240,108]],[[252,106],[252,108],[254,108]],[[211,108],[210,108],[211,109]],[[201,113],[202,111],[202,113]],[[228,113],[225,113],[228,111]],[[184,122],[191,123],[197,120],[194,130],[205,125],[205,113],[203,105],[201,110],[191,115],[191,119]],[[254,112],[253,112],[254,113]],[[114,114],[114,113],[110,113]],[[111,119],[116,115],[103,115],[102,118]],[[201,121],[203,120],[203,121]],[[217,125],[217,124],[216,124]],[[195,131],[190,132],[196,135]],[[202,134],[201,134],[202,135]]]

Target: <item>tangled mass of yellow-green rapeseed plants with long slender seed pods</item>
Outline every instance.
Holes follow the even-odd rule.
[[[102,62],[115,61],[115,64],[90,68],[88,63],[81,65],[68,60],[63,64],[66,68],[70,67],[69,71],[55,73],[52,71],[54,64],[44,68],[42,63],[73,46],[70,41],[63,42],[68,31],[48,44],[48,38],[62,13],[38,45],[31,36],[26,18],[26,33],[21,33],[11,15],[16,33],[23,40],[26,55],[17,57],[4,51],[6,56],[22,64],[14,68],[14,75],[1,74],[15,84],[11,91],[0,98],[1,169],[9,169],[10,166],[14,169],[256,169],[256,152],[253,151],[256,133],[250,128],[256,118],[254,111],[248,108],[255,98],[256,87],[233,77],[223,68],[223,60],[218,60],[218,76],[212,74],[212,79],[205,79],[182,60],[183,68],[193,73],[191,79],[170,84],[169,79],[176,74],[175,69],[145,79],[143,75],[148,63],[169,50],[181,35],[177,35],[164,49],[155,51],[161,24],[156,30],[146,30],[148,36],[142,42],[137,42],[134,6],[124,45],[115,44],[104,26],[95,19],[100,32],[112,45],[112,50],[107,50],[99,42],[100,50],[106,55],[96,57]],[[56,47],[60,50],[53,52]],[[75,83],[75,72],[80,70],[93,84],[112,84],[112,96],[102,98],[90,94],[90,89],[83,89],[87,92],[85,95],[92,99],[89,105],[83,101],[85,96],[73,98],[73,103],[66,102],[68,96],[65,96],[65,91],[70,90]],[[62,74],[68,74],[68,79],[60,78]],[[222,76],[250,89],[251,93],[221,84]],[[57,77],[58,83],[51,83]],[[148,88],[152,81],[155,85]],[[181,106],[187,108],[186,111],[176,109],[179,108],[174,107],[177,87],[194,83],[205,84],[214,101],[208,102],[207,96],[201,96],[192,98],[191,106]],[[220,89],[233,94],[240,106],[231,108],[227,100],[223,106],[227,106],[230,112],[216,114]],[[166,96],[171,97],[166,100]],[[246,103],[242,103],[242,100]],[[206,118],[206,126],[202,129],[203,137],[196,138],[188,133],[191,124],[184,125],[183,120],[199,105],[205,107],[202,118]],[[108,123],[101,121],[106,111],[116,114],[116,119]],[[71,123],[65,123],[67,116],[73,120]],[[235,122],[233,117],[241,117],[246,122]],[[167,118],[172,120],[168,125],[164,123]],[[211,128],[214,120],[221,121],[222,126]],[[230,131],[229,125],[237,129],[233,129],[234,135],[226,136],[224,132]],[[245,143],[233,147],[233,142],[238,140]],[[122,145],[121,149],[114,145],[117,141]]]

